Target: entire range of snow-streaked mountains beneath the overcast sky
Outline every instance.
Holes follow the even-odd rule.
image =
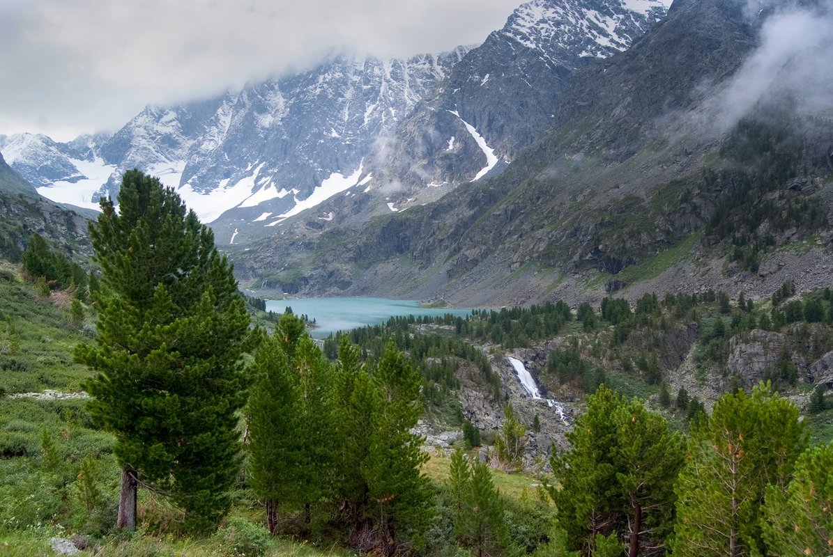
[[[137,167],[177,188],[222,243],[272,234],[327,200],[322,226],[399,211],[506,167],[551,126],[572,73],[626,48],[670,3],[532,0],[474,49],[331,57],[221,97],[148,106],[112,136],[24,134],[0,138],[0,151],[41,195],[85,207]]]

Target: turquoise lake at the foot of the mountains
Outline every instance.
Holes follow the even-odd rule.
[[[296,315],[315,319],[313,338],[326,338],[337,331],[350,331],[366,325],[382,325],[392,316],[453,316],[465,317],[471,310],[420,307],[418,301],[387,300],[387,298],[297,298],[267,300],[267,311],[283,313],[288,307]]]

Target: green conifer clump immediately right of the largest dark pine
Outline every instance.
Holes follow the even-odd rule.
[[[290,356],[292,355],[292,356]],[[277,505],[303,508],[329,495],[335,445],[335,381],[303,321],[284,314],[255,354],[246,409],[252,487],[277,533]]]

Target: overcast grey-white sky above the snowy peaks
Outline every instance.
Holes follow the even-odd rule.
[[[479,44],[521,0],[0,0],[0,134],[67,141],[334,49]]]

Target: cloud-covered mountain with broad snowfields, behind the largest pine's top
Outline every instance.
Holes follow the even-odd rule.
[[[377,137],[467,50],[332,57],[204,102],[148,106],[112,137],[58,143],[18,134],[0,137],[0,151],[56,201],[95,207],[99,196],[116,195],[122,172],[137,167],[176,187],[202,221],[236,207],[247,215],[286,215],[343,189],[349,177],[346,185],[355,184]]]

